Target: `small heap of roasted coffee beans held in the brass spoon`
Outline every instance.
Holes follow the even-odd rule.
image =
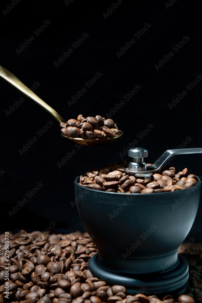
[[[101,116],[84,118],[78,115],[76,119],[69,119],[67,123],[61,123],[63,135],[71,138],[105,139],[120,135],[116,123],[112,119]]]

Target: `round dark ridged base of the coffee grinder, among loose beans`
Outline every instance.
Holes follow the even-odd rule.
[[[144,293],[144,295],[174,294],[180,295],[188,289],[188,264],[182,257],[178,256],[177,264],[165,271],[138,274],[119,275],[108,271],[98,259],[98,254],[91,257],[88,262],[88,269],[94,277],[111,285],[123,285],[128,295]]]

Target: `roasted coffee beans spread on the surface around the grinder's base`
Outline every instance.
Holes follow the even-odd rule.
[[[97,248],[87,233],[50,235],[20,230],[15,235],[9,232],[6,238],[9,246],[5,250],[5,234],[0,235],[0,303],[194,303],[194,298],[202,301],[202,265],[196,266],[193,258],[188,263],[194,266],[190,274],[197,284],[191,280],[187,295],[131,296],[124,286],[108,286],[88,270],[88,261]]]

